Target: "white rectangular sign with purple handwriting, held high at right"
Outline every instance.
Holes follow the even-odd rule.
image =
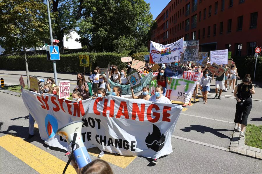
[[[228,63],[228,49],[210,51],[210,63],[216,63],[218,65],[227,65]]]

